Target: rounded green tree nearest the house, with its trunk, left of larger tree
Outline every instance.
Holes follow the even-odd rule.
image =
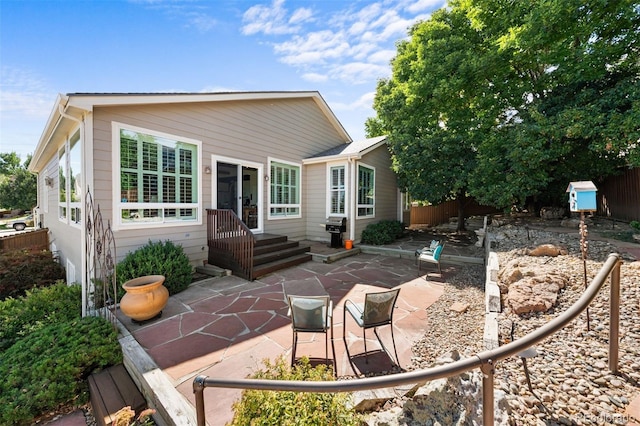
[[[393,168],[414,198],[459,202],[464,229],[469,178],[478,146],[495,125],[492,96],[499,54],[460,9],[441,9],[398,43],[390,79],[378,83],[367,133],[388,133]]]

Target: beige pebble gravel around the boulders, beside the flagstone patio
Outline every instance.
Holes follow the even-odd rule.
[[[500,341],[535,330],[564,312],[584,290],[584,263],[576,234],[526,230],[511,225],[493,230],[497,233],[500,265],[518,257],[530,265],[553,266],[569,274],[567,287],[558,303],[543,314],[500,315]],[[558,257],[526,256],[524,248],[554,243],[565,247],[567,255]],[[616,247],[606,241],[589,240],[587,270],[590,280]],[[416,342],[414,368],[427,368],[452,350],[462,357],[480,352],[484,329],[484,270],[460,267],[447,282],[443,296],[427,310],[429,332]],[[620,374],[608,370],[609,284],[589,308],[590,330],[586,315],[536,346],[538,356],[528,360],[533,393],[526,382],[522,362],[509,358],[496,366],[495,386],[505,392],[514,425],[625,425],[630,418],[625,408],[640,395],[640,262],[626,261],[621,270]],[[462,314],[452,313],[454,302],[468,303]]]

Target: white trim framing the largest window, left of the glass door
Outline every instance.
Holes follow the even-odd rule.
[[[144,203],[145,208],[162,209],[162,208],[191,208],[196,209],[196,218],[194,220],[171,220],[158,222],[132,222],[123,223],[120,210],[125,204],[120,200],[120,130],[131,130],[133,132],[145,133],[159,138],[171,139],[180,142],[186,142],[196,145],[196,159],[198,161],[196,167],[196,179],[198,185],[198,202],[197,203]],[[117,121],[111,122],[111,165],[112,165],[112,202],[113,202],[113,229],[150,229],[161,228],[167,226],[193,226],[202,225],[202,141],[191,139],[184,136],[178,136],[170,133],[159,132],[156,130],[146,129],[144,127],[133,126]]]

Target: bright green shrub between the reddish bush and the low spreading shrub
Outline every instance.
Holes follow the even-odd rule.
[[[0,352],[47,324],[77,319],[81,314],[82,289],[62,281],[0,301]]]

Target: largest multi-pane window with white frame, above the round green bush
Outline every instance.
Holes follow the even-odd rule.
[[[198,220],[200,143],[117,124],[114,134],[119,148],[120,173],[115,187],[119,188],[120,223]]]

